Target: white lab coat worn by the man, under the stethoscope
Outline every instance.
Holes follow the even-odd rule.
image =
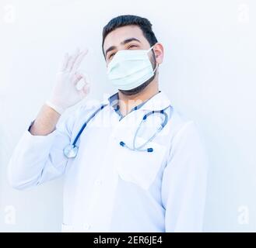
[[[123,119],[109,104],[84,129],[79,153],[63,149],[98,106],[82,106],[47,136],[25,131],[9,162],[9,181],[31,188],[64,175],[62,231],[199,232],[205,206],[207,159],[195,123],[174,109],[167,126],[147,147],[132,146],[142,116],[170,105],[162,92]],[[146,137],[139,136],[138,142]]]

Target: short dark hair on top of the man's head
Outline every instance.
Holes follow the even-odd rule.
[[[150,47],[152,47],[157,43],[156,36],[152,30],[152,24],[149,22],[148,19],[142,18],[137,15],[120,15],[115,17],[114,19],[111,19],[110,22],[108,22],[107,25],[104,26],[103,33],[102,33],[102,38],[103,38],[102,50],[103,50],[104,40],[110,32],[114,31],[114,29],[120,28],[122,26],[128,26],[128,25],[139,26],[140,29],[142,29],[142,33],[145,36],[146,40],[149,41]],[[104,50],[103,50],[103,54],[104,54]]]

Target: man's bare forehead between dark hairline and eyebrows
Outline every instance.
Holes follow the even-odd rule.
[[[107,34],[104,40],[103,49],[106,50],[108,47],[112,46],[117,47],[121,42],[132,37],[137,38],[142,43],[149,43],[139,26],[122,26]]]

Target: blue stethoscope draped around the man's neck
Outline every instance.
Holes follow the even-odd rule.
[[[86,120],[86,122],[82,125],[82,128],[79,130],[79,133],[75,136],[75,140],[73,141],[73,143],[69,144],[68,146],[66,146],[64,148],[63,153],[64,153],[65,157],[67,157],[67,158],[74,158],[74,157],[76,157],[76,155],[77,155],[77,153],[79,151],[79,146],[76,146],[76,143],[79,140],[79,137],[81,136],[83,130],[86,128],[86,126],[88,125],[89,121],[91,119],[93,119],[93,117],[98,112],[100,112],[100,110],[105,108],[106,106],[107,106],[107,104],[106,105],[101,105],[100,108],[96,109],[96,111],[93,112],[93,114],[89,116],[89,119]],[[169,106],[167,106],[167,108],[172,108],[172,107],[171,107],[171,105],[169,105]],[[126,147],[126,148],[128,148],[128,150],[152,153],[153,152],[153,147],[149,147],[149,148],[146,148],[146,149],[144,149],[143,147],[145,147],[149,142],[151,142],[156,137],[156,135],[161,132],[161,130],[164,128],[164,126],[167,125],[167,122],[168,122],[168,119],[169,119],[167,113],[165,112],[165,110],[167,108],[163,108],[162,110],[153,110],[151,112],[148,112],[146,115],[144,115],[143,118],[142,118],[142,121],[139,123],[139,126],[136,129],[136,131],[135,131],[135,136],[133,138],[132,147],[130,147],[127,144],[125,144],[124,141],[121,141],[119,143],[120,146]],[[138,136],[139,129],[141,128],[142,124],[144,122],[146,122],[146,119],[149,118],[150,115],[154,115],[154,114],[161,114],[161,115],[163,115],[164,116],[163,122],[160,124],[160,127],[156,129],[156,133],[154,133],[153,136],[151,136],[149,138],[149,140],[147,140],[142,145],[136,147],[135,146],[135,140],[136,140],[136,137]]]

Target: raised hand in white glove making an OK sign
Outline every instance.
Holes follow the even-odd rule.
[[[88,78],[86,79],[86,76],[78,71],[79,65],[87,53],[88,50],[80,51],[77,49],[72,56],[69,56],[68,53],[65,54],[51,97],[46,102],[59,114],[80,102],[89,93]],[[84,85],[79,87],[81,81]]]

